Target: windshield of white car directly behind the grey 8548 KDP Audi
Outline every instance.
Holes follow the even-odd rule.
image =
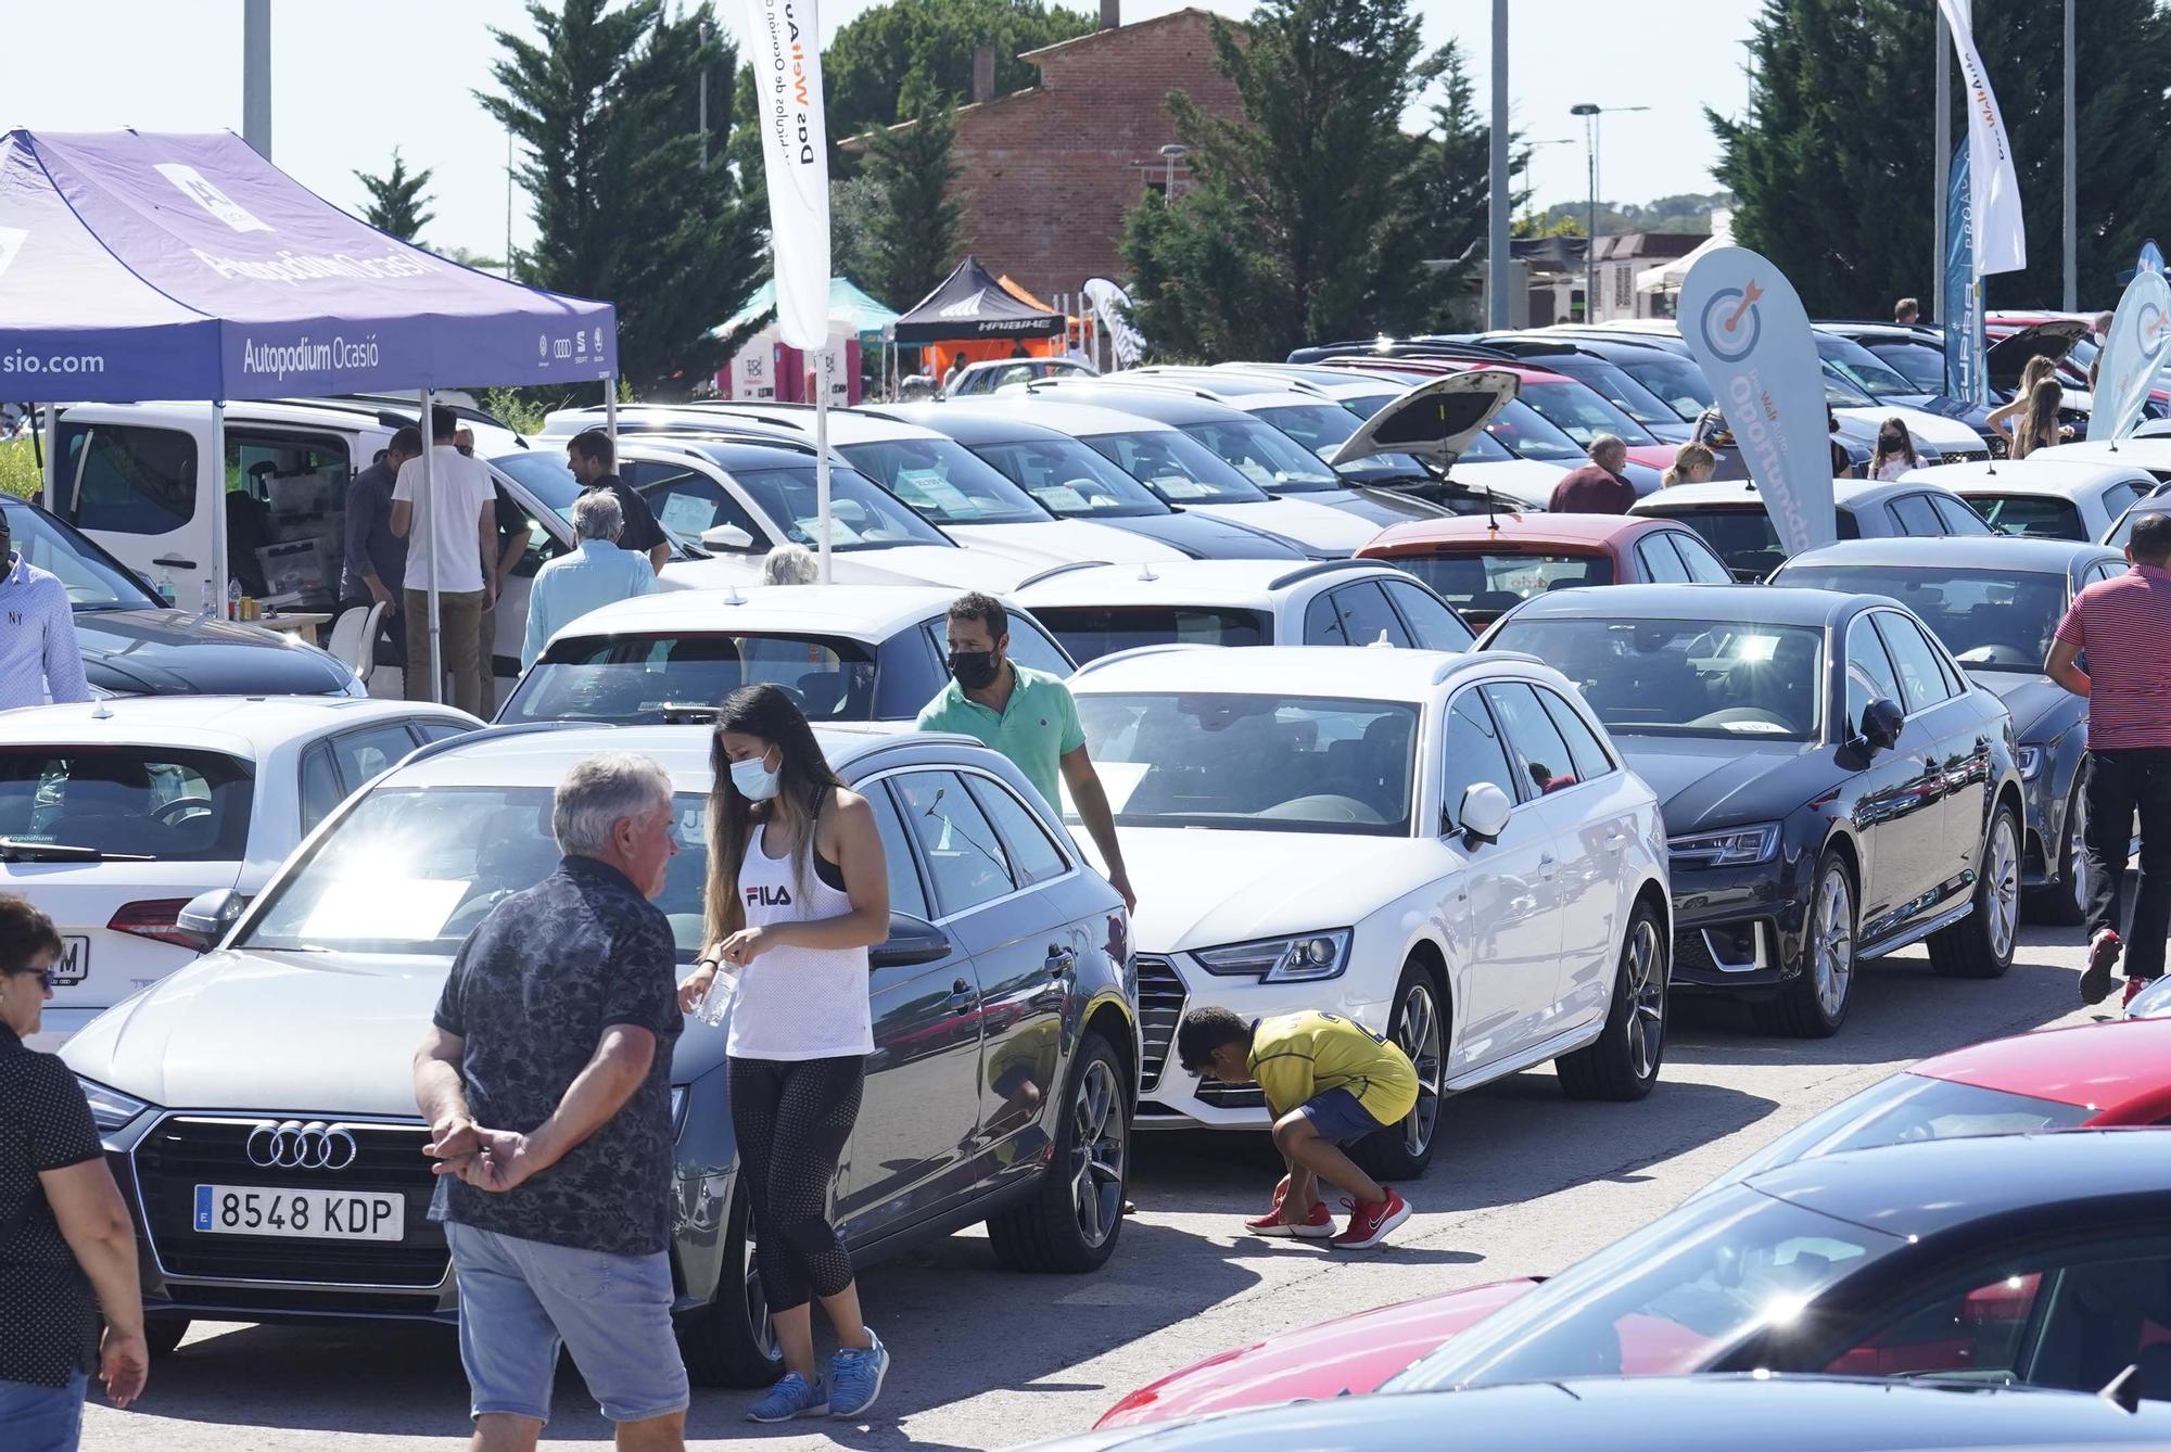
[[[558,638],[497,721],[660,725],[666,705],[716,705],[764,682],[784,686],[814,723],[875,714],[875,655],[858,640],[684,632]]]

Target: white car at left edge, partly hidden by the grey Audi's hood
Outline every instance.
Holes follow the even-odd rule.
[[[482,723],[365,697],[117,697],[0,714],[0,892],[65,951],[33,1048],[56,1048],[211,944],[204,892],[254,896],[332,807]],[[224,931],[226,925],[219,925]]]

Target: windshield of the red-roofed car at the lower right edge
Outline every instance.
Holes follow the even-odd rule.
[[[1971,1135],[2030,1135],[2071,1129],[2089,1118],[2084,1105],[2060,1105],[2030,1094],[2006,1094],[1928,1074],[1893,1074],[1852,1094],[1808,1122],[1763,1146],[1696,1194],[1711,1194],[1774,1166],[1817,1159],[1839,1150],[1871,1150],[1882,1144],[1963,1139]]]

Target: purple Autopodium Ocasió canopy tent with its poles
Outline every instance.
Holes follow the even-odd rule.
[[[350,217],[241,137],[0,137],[0,393],[46,404],[604,382],[608,302],[493,278]],[[54,408],[46,408],[52,491]],[[430,451],[423,449],[423,508]],[[432,547],[436,532],[428,530]],[[215,532],[213,579],[228,577]],[[434,577],[434,571],[432,571]],[[432,697],[436,588],[430,590]]]

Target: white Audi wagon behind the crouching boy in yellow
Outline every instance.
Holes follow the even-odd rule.
[[[1559,1061],[1639,1098],[1665,1048],[1665,829],[1533,658],[1148,647],[1070,677],[1125,866],[1142,1126],[1264,1129],[1255,1085],[1168,1053],[1185,1009],[1326,1009],[1418,1066],[1374,1174],[1431,1159],[1444,1094]]]

